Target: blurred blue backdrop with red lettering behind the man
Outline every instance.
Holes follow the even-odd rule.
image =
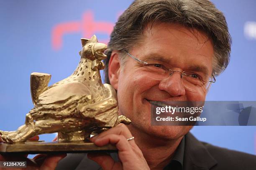
[[[214,0],[226,16],[233,39],[231,61],[217,77],[207,100],[256,100],[256,1]],[[131,0],[0,0],[0,129],[16,130],[33,107],[31,72],[52,75],[50,84],[70,75],[79,62],[81,37],[108,42],[118,16]],[[214,145],[256,154],[256,128],[194,127]],[[52,135],[41,135],[50,141]]]

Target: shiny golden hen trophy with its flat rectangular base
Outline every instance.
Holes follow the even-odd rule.
[[[69,77],[48,87],[51,75],[31,73],[34,108],[26,114],[25,124],[18,130],[0,130],[5,142],[0,144],[0,153],[116,151],[112,145],[97,147],[89,142],[91,134],[101,133],[120,122],[127,125],[131,122],[123,115],[118,116],[115,89],[101,81],[107,45],[99,43],[95,35],[81,41],[81,59]],[[28,141],[45,133],[58,133],[58,141]]]

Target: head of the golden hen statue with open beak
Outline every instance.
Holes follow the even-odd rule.
[[[93,35],[91,39],[81,38],[82,50],[79,52],[81,58],[88,58],[90,60],[104,60],[107,55],[104,51],[107,49],[107,45],[99,43],[97,37]]]

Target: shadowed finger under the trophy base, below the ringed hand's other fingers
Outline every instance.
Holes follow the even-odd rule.
[[[103,170],[123,169],[120,163],[115,163],[113,158],[106,153],[88,153],[87,157],[98,163]]]

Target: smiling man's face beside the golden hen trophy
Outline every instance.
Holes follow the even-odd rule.
[[[193,66],[207,67],[208,74],[211,75],[214,52],[212,42],[207,39],[204,33],[195,29],[157,23],[150,32],[144,32],[142,45],[134,44],[129,53],[142,61],[154,59],[154,56],[161,57],[181,72]],[[151,79],[141,64],[131,57],[120,66],[116,88],[119,112],[131,119],[133,129],[165,139],[180,138],[192,126],[151,126],[151,104],[148,100],[204,101],[206,96],[205,90],[187,90],[179,72],[175,72],[167,80]]]

